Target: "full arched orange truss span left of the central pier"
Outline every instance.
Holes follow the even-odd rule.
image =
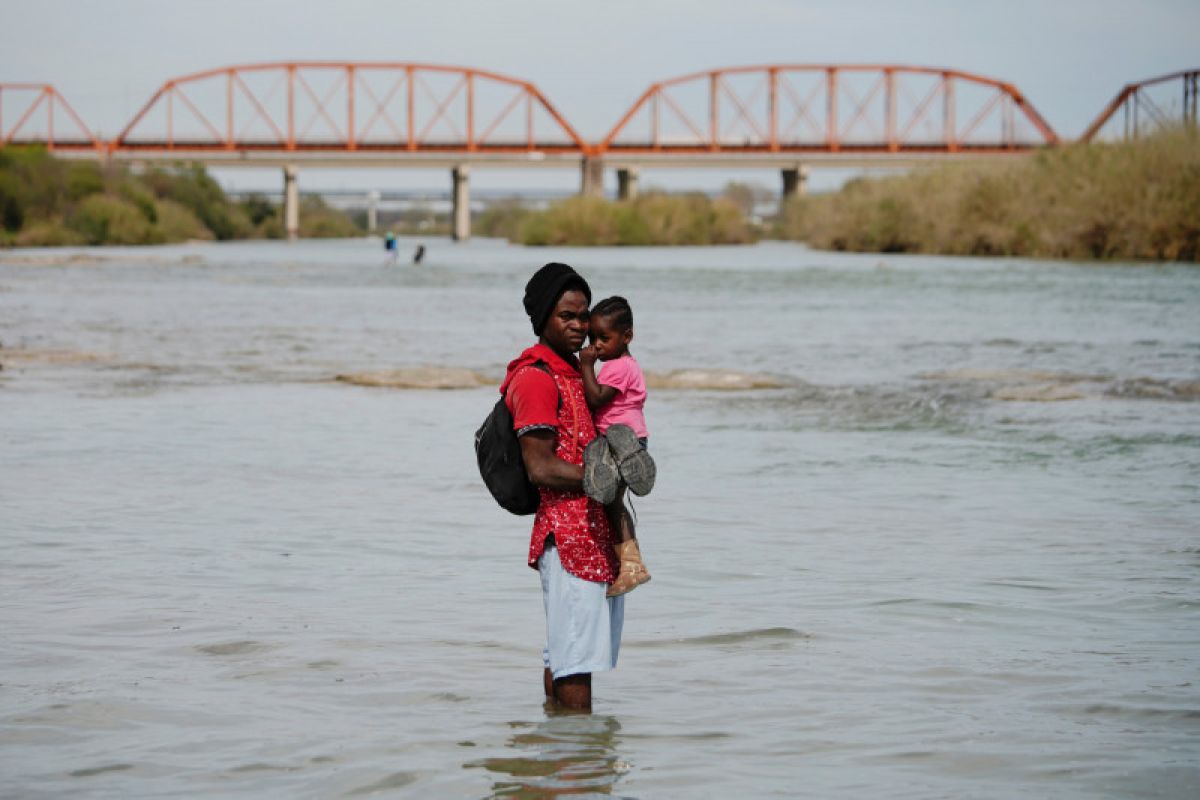
[[[164,83],[116,150],[529,152],[587,145],[532,83],[469,67],[308,61]]]

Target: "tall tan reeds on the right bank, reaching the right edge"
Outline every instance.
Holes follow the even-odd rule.
[[[840,251],[1195,261],[1200,137],[1164,131],[859,179],[790,201],[776,234]]]

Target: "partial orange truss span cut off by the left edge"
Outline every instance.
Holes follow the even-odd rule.
[[[0,83],[0,148],[13,144],[49,150],[103,148],[50,84]]]

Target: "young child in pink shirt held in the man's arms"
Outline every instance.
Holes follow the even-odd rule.
[[[618,427],[613,431],[608,444],[619,451],[618,437],[625,437],[629,439],[626,446],[642,451],[634,459],[638,462],[634,467],[648,464],[649,475],[646,476],[643,470],[642,480],[632,477],[629,480],[630,488],[636,494],[646,494],[653,486],[654,468],[649,455],[644,452],[649,439],[646,416],[642,413],[646,405],[646,378],[629,353],[629,343],[634,341],[634,312],[629,302],[624,297],[616,296],[598,302],[592,307],[590,330],[592,344],[580,351],[583,393],[587,396],[600,435],[607,435],[613,426],[628,426],[632,429],[632,435],[637,437],[637,444],[634,444],[630,432]],[[604,362],[599,378],[595,374],[598,360]],[[632,591],[650,579],[637,547],[634,522],[624,510],[624,498],[625,486],[622,485],[616,499],[605,506],[613,534],[613,549],[620,559],[620,572],[608,588],[610,597]]]

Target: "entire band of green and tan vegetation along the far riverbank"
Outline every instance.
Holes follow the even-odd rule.
[[[956,163],[790,200],[762,219],[764,191],[739,184],[718,198],[650,191],[632,200],[575,197],[545,209],[488,204],[478,235],[534,246],[733,245],[762,236],[835,251],[1200,260],[1200,136],[1164,131],[1136,142],[1073,144],[1030,158]],[[431,206],[384,229],[438,235]],[[304,197],[301,236],[358,236],[350,215]],[[134,245],[278,239],[277,203],[230,200],[199,166],[133,172],[0,149],[0,246]]]

